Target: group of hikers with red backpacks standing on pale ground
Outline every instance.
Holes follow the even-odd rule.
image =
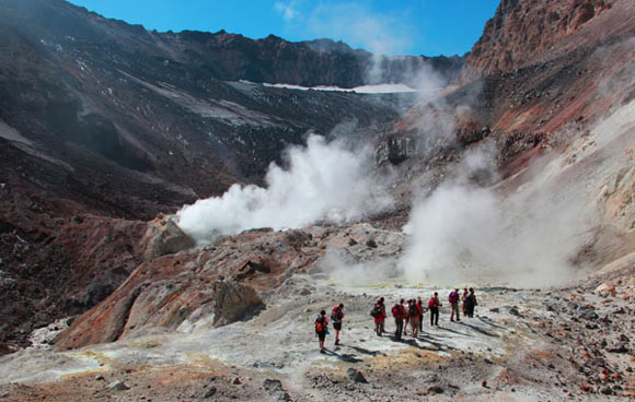
[[[448,302],[450,303],[451,314],[450,321],[461,321],[459,307],[462,306],[462,312],[464,317],[474,317],[474,307],[478,305],[476,302],[476,295],[474,289],[464,288],[461,295],[459,288],[450,292],[448,295]],[[424,314],[426,311],[430,312],[430,327],[439,326],[439,307],[441,307],[439,302],[439,294],[435,294],[428,300],[427,308],[424,307],[420,298],[408,299],[407,302],[403,298],[399,300],[392,308],[391,314],[395,320],[395,340],[400,341],[403,335],[407,335],[408,327],[411,329],[411,335],[417,338],[419,332],[423,331]],[[374,332],[378,336],[381,336],[385,332],[385,319],[388,318],[384,305],[384,298],[380,297],[370,310],[370,316],[374,321]],[[342,321],[344,319],[344,304],[339,304],[333,307],[331,311],[331,320],[333,321],[333,328],[335,329],[335,344],[339,344],[339,331],[342,330]],[[324,353],[324,340],[328,333],[328,319],[326,318],[326,311],[320,311],[320,315],[315,318],[315,333],[320,340],[320,352]]]

